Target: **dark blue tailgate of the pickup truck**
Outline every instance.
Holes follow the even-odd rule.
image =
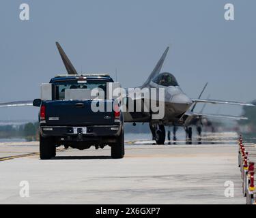
[[[106,106],[106,101],[103,103]],[[113,111],[92,111],[91,100],[47,101],[44,106],[46,107],[46,125],[113,125],[115,122]]]

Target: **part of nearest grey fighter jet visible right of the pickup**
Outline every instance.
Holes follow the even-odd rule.
[[[162,65],[167,56],[169,47],[165,50],[160,57],[160,60],[154,67],[152,73],[147,78],[147,80],[139,87],[140,89],[165,89],[165,115],[162,119],[153,120],[152,112],[126,112],[125,121],[126,122],[148,122],[150,124],[150,129],[152,131],[153,139],[156,140],[156,144],[165,143],[165,126],[173,125],[174,127],[183,126],[188,131],[188,138],[192,138],[192,125],[197,125],[198,122],[206,118],[217,118],[217,119],[246,119],[243,116],[229,116],[229,115],[220,115],[220,114],[203,114],[194,112],[195,106],[197,103],[204,104],[230,104],[237,106],[254,106],[253,104],[248,104],[244,102],[231,102],[231,101],[221,101],[214,99],[201,99],[201,95],[205,90],[201,91],[197,99],[191,99],[182,91],[180,85],[178,84],[175,76],[170,72],[160,72]],[[135,99],[134,99],[135,100]],[[136,99],[138,100],[138,99]],[[150,107],[147,105],[147,107]]]

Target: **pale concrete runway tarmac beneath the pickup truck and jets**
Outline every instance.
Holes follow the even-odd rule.
[[[39,159],[38,142],[1,142],[0,204],[244,204],[236,140],[214,140],[134,140],[124,159],[111,159],[106,146],[61,149],[51,160]],[[29,197],[20,197],[20,181],[29,184]],[[226,181],[234,184],[231,198]]]

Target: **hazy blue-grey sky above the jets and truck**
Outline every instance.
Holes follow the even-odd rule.
[[[30,20],[19,18],[29,3]],[[225,3],[235,20],[224,19]],[[40,97],[40,84],[66,73],[55,41],[76,69],[109,72],[123,87],[143,83],[167,46],[163,71],[197,97],[255,99],[256,1],[234,0],[1,0],[0,102]],[[200,110],[201,106],[198,106]],[[237,106],[205,112],[239,114]],[[0,119],[37,119],[38,108],[1,108]]]

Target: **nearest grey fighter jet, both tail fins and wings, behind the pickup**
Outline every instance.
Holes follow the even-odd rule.
[[[76,69],[72,65],[70,59],[61,48],[60,44],[56,42],[57,49],[61,55],[61,59],[66,67],[68,74],[77,74]],[[231,101],[221,101],[214,99],[201,99],[201,94],[197,99],[192,99],[182,91],[180,85],[178,84],[175,76],[170,72],[161,72],[162,65],[167,57],[167,52],[169,47],[166,48],[165,52],[160,57],[158,63],[154,67],[150,76],[147,80],[140,86],[139,89],[147,88],[148,90],[154,88],[159,90],[164,89],[164,108],[165,113],[161,119],[152,119],[152,114],[154,113],[151,105],[145,105],[147,110],[132,111],[130,112],[128,105],[126,105],[126,112],[124,112],[124,121],[126,123],[149,123],[150,129],[152,131],[152,136],[156,140],[156,144],[165,143],[165,126],[183,126],[188,128],[188,135],[192,136],[191,125],[195,125],[195,121],[202,119],[203,117],[216,117],[216,118],[227,118],[227,119],[246,119],[240,116],[229,116],[229,115],[216,115],[216,114],[203,114],[194,112],[195,106],[198,103],[204,104],[231,104],[237,106],[255,106],[253,104],[248,104],[244,102],[231,102]],[[205,86],[206,87],[206,86]],[[205,89],[204,87],[204,89]],[[203,89],[203,91],[204,91]],[[126,89],[128,90],[128,89]],[[203,91],[201,93],[203,93]],[[142,102],[145,101],[145,97],[141,96],[139,98],[132,97],[131,94],[125,96],[136,104],[138,100]],[[152,99],[150,99],[151,101]],[[128,101],[127,101],[128,102]],[[157,100],[156,100],[157,102]],[[159,102],[157,102],[159,103]],[[0,104],[1,107],[13,107],[13,106],[32,106],[33,101],[22,101],[22,102],[7,102]],[[145,108],[143,108],[145,109]]]

